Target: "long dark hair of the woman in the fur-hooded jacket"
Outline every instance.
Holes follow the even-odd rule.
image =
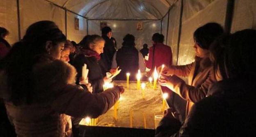
[[[0,70],[7,74],[8,94],[15,105],[30,104],[32,97],[31,73],[42,55],[47,54],[46,42],[57,45],[66,41],[65,35],[52,21],[39,21],[28,27],[25,36],[16,42],[0,61]]]

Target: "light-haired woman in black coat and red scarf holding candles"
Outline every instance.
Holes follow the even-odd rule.
[[[82,66],[87,64],[87,69],[89,69],[88,78],[93,87],[93,93],[102,92],[103,84],[112,81],[112,79],[106,77],[107,66],[100,55],[103,53],[104,44],[105,40],[101,36],[87,35],[80,42],[83,47],[82,54],[75,57],[73,62],[73,66],[78,72],[78,78],[82,76]],[[110,73],[114,73],[114,69],[111,69]],[[78,79],[77,83],[79,83]]]

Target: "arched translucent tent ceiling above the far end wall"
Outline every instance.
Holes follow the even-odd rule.
[[[177,0],[47,0],[88,19],[160,20]]]

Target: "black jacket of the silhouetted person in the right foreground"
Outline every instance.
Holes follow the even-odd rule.
[[[185,123],[164,117],[156,137],[253,137],[255,136],[255,80],[217,82],[208,97],[192,106]]]

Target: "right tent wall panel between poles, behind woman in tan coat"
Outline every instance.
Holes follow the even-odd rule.
[[[184,1],[184,4],[192,1]],[[179,47],[179,57],[178,64],[184,65],[189,64],[194,61],[194,31],[208,23],[208,22],[217,22],[224,26],[225,17],[226,17],[226,0],[215,0],[211,2],[207,7],[198,13],[194,14],[192,17],[184,19],[182,22],[182,30],[181,30],[181,42]],[[188,8],[188,7],[183,7]],[[190,10],[184,10],[184,14],[189,12]]]

